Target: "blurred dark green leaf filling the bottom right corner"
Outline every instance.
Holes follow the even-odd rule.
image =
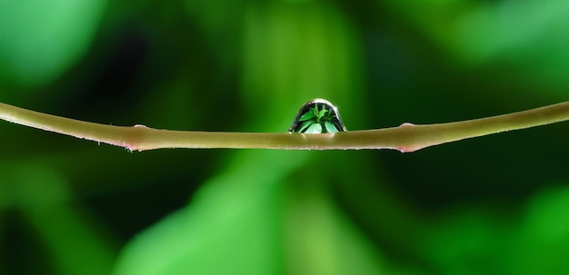
[[[496,209],[471,205],[433,227],[424,255],[438,274],[569,272],[569,188],[536,194],[521,218]]]

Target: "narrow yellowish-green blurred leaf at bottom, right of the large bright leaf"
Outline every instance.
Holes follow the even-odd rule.
[[[306,172],[284,187],[286,273],[393,274],[371,240],[332,200],[334,177],[334,172]]]

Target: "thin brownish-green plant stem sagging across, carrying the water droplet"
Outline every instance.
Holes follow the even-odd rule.
[[[286,150],[393,149],[425,147],[569,120],[569,102],[528,111],[455,123],[415,125],[340,133],[226,133],[170,131],[87,123],[0,103],[0,119],[76,138],[105,142],[130,151],[161,148],[247,148]]]

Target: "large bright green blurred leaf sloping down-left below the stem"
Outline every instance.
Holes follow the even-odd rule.
[[[275,274],[283,269],[282,184],[308,154],[242,152],[178,211],[123,251],[115,274]],[[156,253],[160,251],[160,253]]]

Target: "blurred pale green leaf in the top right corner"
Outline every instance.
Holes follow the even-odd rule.
[[[455,63],[466,66],[505,64],[506,74],[517,72],[545,83],[569,85],[565,74],[569,71],[567,1],[395,0],[383,3],[452,55]],[[501,70],[504,71],[504,67]],[[561,98],[566,98],[566,94],[562,93]]]

